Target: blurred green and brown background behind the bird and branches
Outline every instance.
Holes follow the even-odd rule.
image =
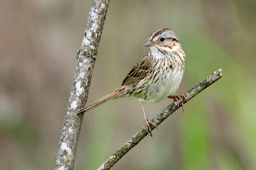
[[[91,1],[1,1],[0,169],[53,169]],[[91,103],[115,90],[159,28],[186,52],[177,94],[216,69],[223,78],[179,109],[113,169],[256,169],[256,1],[112,1]],[[172,101],[145,105],[153,118]],[[96,169],[144,126],[141,105],[120,99],[83,120],[74,169]]]

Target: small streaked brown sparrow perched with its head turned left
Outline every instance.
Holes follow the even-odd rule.
[[[83,107],[76,114],[88,112],[113,99],[122,97],[138,99],[143,109],[145,128],[148,135],[153,137],[150,124],[156,128],[158,127],[147,119],[144,103],[151,104],[170,98],[173,101],[180,100],[184,109],[181,97],[184,97],[184,99],[186,97],[174,94],[182,82],[186,54],[175,32],[171,29],[157,29],[150,34],[144,46],[149,47],[150,52],[132,67],[121,86],[109,95]]]

